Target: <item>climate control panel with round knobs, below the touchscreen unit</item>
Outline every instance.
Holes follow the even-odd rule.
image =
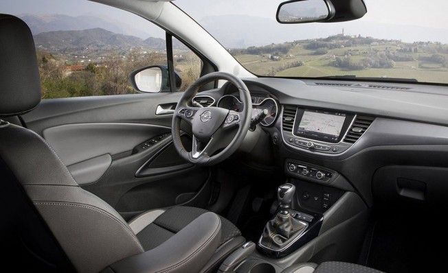
[[[335,171],[292,159],[286,161],[285,168],[288,174],[295,177],[308,178],[322,182],[330,182],[332,178],[335,177]]]

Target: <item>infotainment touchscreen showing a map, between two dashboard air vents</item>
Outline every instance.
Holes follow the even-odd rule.
[[[295,135],[309,139],[337,142],[346,125],[346,114],[322,110],[304,110]]]

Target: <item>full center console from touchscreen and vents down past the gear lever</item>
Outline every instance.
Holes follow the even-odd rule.
[[[271,136],[287,180],[278,187],[260,237],[225,261],[221,272],[280,273],[296,263],[359,257],[368,206],[352,184],[331,169],[338,165],[328,162],[350,149],[374,118],[284,105],[280,120]]]

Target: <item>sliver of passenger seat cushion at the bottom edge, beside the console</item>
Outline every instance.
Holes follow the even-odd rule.
[[[383,273],[373,268],[356,265],[354,263],[343,263],[340,261],[327,261],[317,265],[315,263],[298,263],[291,265],[282,273]]]

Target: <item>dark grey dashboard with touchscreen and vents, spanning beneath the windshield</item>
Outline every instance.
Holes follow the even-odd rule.
[[[260,123],[273,146],[269,164],[287,176],[356,191],[368,205],[374,191],[401,189],[394,183],[405,178],[423,181],[426,191],[440,192],[440,185],[428,179],[433,167],[448,173],[447,87],[284,78],[243,81],[251,92],[253,115],[269,110]],[[201,95],[213,97],[213,106],[241,110],[238,91],[229,84]],[[260,151],[267,150],[254,145],[253,151],[251,160],[257,161],[263,156]],[[390,186],[376,180],[388,166],[401,170],[388,175]],[[429,175],[408,175],[408,167]],[[403,198],[402,192],[381,198]]]

